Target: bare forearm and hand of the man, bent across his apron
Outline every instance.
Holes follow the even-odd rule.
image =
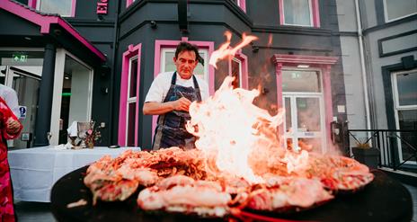
[[[145,102],[144,115],[161,115],[170,111],[188,111],[191,101],[185,97],[171,102]]]

